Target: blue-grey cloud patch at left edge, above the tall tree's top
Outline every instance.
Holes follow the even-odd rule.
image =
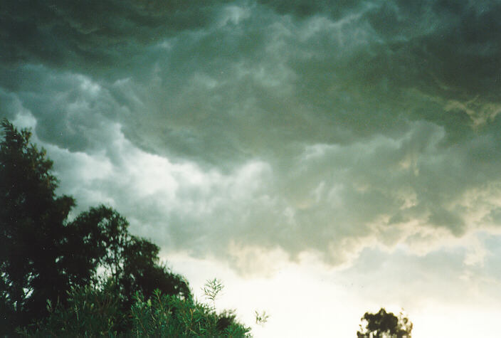
[[[10,73],[14,80],[4,78],[4,93],[10,99],[0,102],[2,115],[12,118],[30,112],[37,120],[38,137],[72,151],[92,151],[112,142],[103,120],[120,114],[122,108],[98,83],[41,65],[24,65]]]

